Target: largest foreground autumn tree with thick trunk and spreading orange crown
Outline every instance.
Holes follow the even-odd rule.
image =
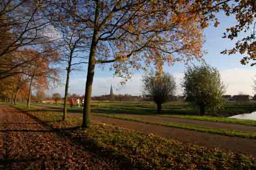
[[[217,1],[206,0],[61,0],[44,1],[54,13],[72,17],[90,42],[82,127],[87,127],[94,69],[110,63],[124,80],[132,70],[202,57],[202,29],[209,17],[204,9]],[[70,5],[72,4],[72,5]]]

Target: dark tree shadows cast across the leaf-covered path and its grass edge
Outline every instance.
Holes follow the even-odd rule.
[[[20,110],[20,109],[19,109]],[[17,113],[17,112],[16,112]],[[38,157],[30,157],[30,156],[24,156],[22,158],[9,158],[8,157],[8,139],[10,138],[9,135],[12,133],[54,133],[57,134],[57,136],[63,140],[69,139],[71,141],[71,144],[75,147],[78,147],[81,151],[85,151],[87,153],[92,153],[93,155],[96,156],[96,158],[92,156],[90,160],[94,161],[93,159],[97,159],[98,161],[96,162],[106,162],[110,163],[109,166],[106,165],[106,169],[109,170],[115,170],[115,169],[122,169],[122,170],[133,170],[133,169],[140,169],[140,170],[147,170],[147,168],[141,166],[140,161],[138,161],[137,164],[133,164],[132,161],[125,156],[122,156],[115,151],[107,148],[103,148],[97,145],[97,141],[94,140],[88,140],[85,137],[75,137],[72,135],[73,132],[76,130],[80,129],[80,126],[75,126],[75,127],[70,127],[70,128],[52,128],[52,126],[49,126],[45,121],[40,120],[38,117],[34,116],[33,114],[29,112],[25,112],[23,110],[20,110],[21,114],[27,115],[29,118],[33,119],[35,121],[35,124],[41,124],[44,126],[43,130],[34,130],[34,129],[10,129],[10,130],[0,130],[0,133],[3,133],[5,135],[4,137],[4,156],[0,157],[0,169],[3,170],[9,170],[13,169],[13,166],[15,164],[22,164],[22,168],[26,169],[26,167],[32,166],[33,169],[39,169],[39,170],[45,170],[47,167],[47,164],[49,162],[52,163],[52,168],[54,170],[59,170],[59,169],[65,169],[65,166],[68,164],[68,159],[64,160],[58,160],[55,158],[53,155],[46,155],[46,154],[39,154]],[[13,125],[14,123],[9,123],[7,125]],[[26,123],[18,123],[20,125],[26,124]],[[30,123],[34,124],[34,123]],[[29,145],[29,144],[27,144]],[[15,147],[15,146],[13,146]],[[69,146],[68,146],[69,147]],[[71,146],[72,147],[72,146]],[[79,150],[78,150],[79,151]],[[32,165],[33,164],[33,165]],[[61,164],[61,165],[60,165]],[[66,165],[65,165],[66,164]],[[95,164],[95,161],[94,161]],[[98,168],[93,168],[93,169],[101,169],[100,164],[95,165]],[[62,168],[60,168],[62,167]],[[104,166],[103,166],[104,167]],[[30,167],[31,168],[31,167]],[[80,169],[83,170],[86,167],[81,165]],[[104,169],[105,169],[104,168]]]

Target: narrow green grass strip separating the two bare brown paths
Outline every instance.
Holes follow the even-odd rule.
[[[128,116],[120,116],[120,115],[114,115],[114,114],[97,114],[94,113],[96,116],[102,116],[102,117],[108,117],[108,118],[114,118],[114,119],[120,119],[120,120],[129,120],[129,121],[135,121],[135,122],[141,122],[141,123],[147,123],[152,125],[161,125],[161,126],[169,126],[169,127],[175,127],[175,128],[182,128],[187,130],[193,130],[198,132],[207,132],[207,133],[214,133],[214,134],[222,134],[226,136],[236,136],[236,137],[242,137],[242,138],[252,138],[256,139],[256,133],[251,132],[243,132],[243,131],[235,131],[235,130],[225,130],[225,129],[214,129],[204,126],[195,126],[191,124],[180,124],[180,123],[173,123],[173,122],[152,122],[144,119],[137,119],[134,117],[128,117]]]

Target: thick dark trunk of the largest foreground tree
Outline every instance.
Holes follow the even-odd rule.
[[[95,23],[94,34],[93,34],[92,44],[91,44],[90,54],[89,54],[87,79],[86,79],[86,87],[85,87],[85,95],[84,95],[82,128],[88,127],[89,115],[90,115],[94,68],[96,64],[95,55],[96,55],[97,37],[98,37],[97,23],[98,23],[98,16],[99,16],[99,6],[100,6],[100,3],[97,1],[96,8],[95,8],[95,15],[94,15],[94,23]]]

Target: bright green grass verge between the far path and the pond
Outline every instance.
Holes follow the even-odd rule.
[[[256,120],[241,120],[236,118],[225,118],[225,117],[217,117],[217,116],[197,116],[197,115],[178,115],[178,114],[174,114],[174,115],[165,114],[165,115],[158,115],[158,116],[256,126]]]

